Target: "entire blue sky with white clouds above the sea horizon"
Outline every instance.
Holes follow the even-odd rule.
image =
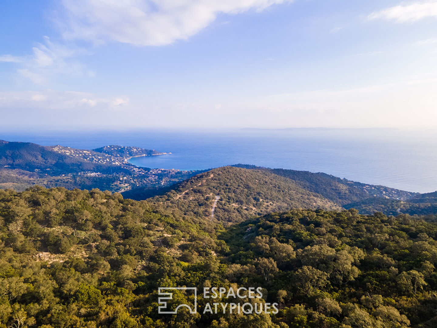
[[[0,129],[437,128],[437,0],[2,0]]]

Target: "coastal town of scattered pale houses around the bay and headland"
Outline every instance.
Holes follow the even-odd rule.
[[[82,161],[95,165],[88,166],[80,172],[69,172],[53,175],[51,169],[46,168],[24,171],[18,168],[4,165],[0,174],[7,180],[9,188],[24,190],[31,185],[42,185],[50,188],[61,184],[66,188],[89,188],[89,185],[96,185],[98,188],[107,188],[112,192],[125,192],[134,188],[162,187],[177,183],[178,181],[194,175],[191,171],[180,171],[176,169],[137,167],[129,163],[129,159],[139,156],[156,156],[167,153],[156,150],[143,149],[140,147],[126,146],[105,146],[94,150],[76,149],[64,146],[39,146],[49,152],[71,157],[74,162]],[[65,157],[64,157],[65,158]],[[104,166],[102,166],[102,164]],[[113,167],[113,170],[105,170],[104,167]],[[5,186],[6,186],[5,185]]]

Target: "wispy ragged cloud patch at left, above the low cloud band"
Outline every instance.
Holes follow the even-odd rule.
[[[88,52],[77,47],[51,42],[44,37],[44,44],[38,43],[28,56],[0,56],[0,62],[15,63],[19,66],[17,73],[35,84],[45,84],[55,75],[83,76],[92,75],[83,65],[73,58]]]

